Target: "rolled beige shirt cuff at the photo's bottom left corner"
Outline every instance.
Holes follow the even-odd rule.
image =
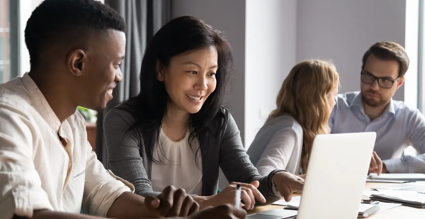
[[[19,185],[12,190],[11,194],[14,199],[11,203],[14,203],[14,214],[17,216],[31,218],[34,210],[54,210],[49,202],[47,194],[42,188],[30,189]]]

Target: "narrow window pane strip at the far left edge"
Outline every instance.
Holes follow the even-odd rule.
[[[7,82],[11,78],[9,27],[9,0],[0,0],[0,83]]]

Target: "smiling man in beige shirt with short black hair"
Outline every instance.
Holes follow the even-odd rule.
[[[77,106],[102,109],[122,81],[125,22],[95,0],[45,0],[25,30],[31,71],[0,85],[0,218],[94,219],[187,216],[184,190],[134,194],[105,170],[87,141]],[[95,215],[78,214],[80,210]],[[246,215],[226,206],[195,213]]]

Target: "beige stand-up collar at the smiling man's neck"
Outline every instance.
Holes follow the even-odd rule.
[[[25,73],[22,76],[21,81],[24,87],[28,90],[28,94],[34,103],[34,108],[46,120],[51,128],[58,131],[61,125],[59,118],[56,116],[35,82],[31,79],[31,77],[29,77],[28,73]]]

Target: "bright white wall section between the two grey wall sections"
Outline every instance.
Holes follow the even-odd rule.
[[[296,0],[246,0],[245,148],[276,108],[283,80],[296,63]]]

